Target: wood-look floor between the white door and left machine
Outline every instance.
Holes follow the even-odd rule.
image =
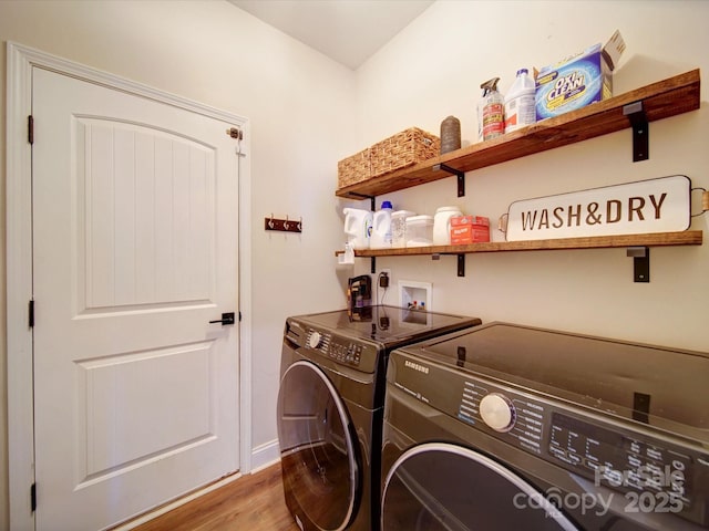
[[[135,531],[300,531],[286,502],[280,465],[244,476]]]

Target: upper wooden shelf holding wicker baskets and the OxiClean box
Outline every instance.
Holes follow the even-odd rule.
[[[336,196],[362,199],[450,177],[441,164],[472,171],[535,153],[629,128],[626,105],[641,102],[648,122],[699,108],[699,70],[653,83],[554,118],[547,118],[492,140],[480,142],[363,183],[337,189]]]

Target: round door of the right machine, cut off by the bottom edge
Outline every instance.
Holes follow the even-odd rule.
[[[578,529],[496,461],[435,442],[415,446],[394,462],[384,482],[381,518],[382,531]]]

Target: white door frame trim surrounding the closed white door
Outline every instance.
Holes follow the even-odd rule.
[[[239,160],[239,451],[240,470],[251,468],[251,267],[249,122],[113,74],[13,42],[7,44],[7,371],[10,529],[34,529],[30,487],[34,482],[32,331],[32,152],[28,116],[32,108],[32,69],[42,67],[193,113],[237,125],[244,132]],[[226,132],[225,132],[226,134]],[[235,143],[236,149],[236,143]]]

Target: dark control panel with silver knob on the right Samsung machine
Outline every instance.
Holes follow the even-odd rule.
[[[620,492],[628,511],[668,512],[709,525],[709,451],[699,445],[422,357],[394,351],[389,362],[391,385],[596,487]]]

